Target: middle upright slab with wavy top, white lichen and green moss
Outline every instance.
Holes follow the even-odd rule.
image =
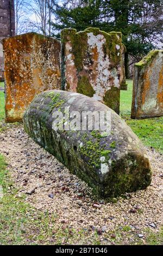
[[[121,33],[64,29],[61,45],[62,89],[93,97],[119,113]]]

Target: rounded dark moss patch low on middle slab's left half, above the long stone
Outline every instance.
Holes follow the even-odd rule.
[[[77,93],[81,93],[89,97],[93,97],[93,94],[95,94],[95,90],[93,90],[93,87],[91,86],[87,76],[82,76],[79,78]]]

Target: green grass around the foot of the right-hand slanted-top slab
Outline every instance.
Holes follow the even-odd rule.
[[[163,152],[163,117],[146,118],[146,119],[131,119],[131,101],[133,82],[127,81],[128,90],[121,90],[121,105],[120,114],[126,119],[127,124],[141,139],[143,144],[152,147],[160,153]]]

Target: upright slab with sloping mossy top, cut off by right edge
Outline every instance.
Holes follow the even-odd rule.
[[[134,68],[131,118],[163,115],[163,51],[149,52]]]

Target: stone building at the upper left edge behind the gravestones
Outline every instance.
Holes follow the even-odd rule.
[[[14,0],[0,0],[0,81],[4,80],[2,39],[15,35]]]

